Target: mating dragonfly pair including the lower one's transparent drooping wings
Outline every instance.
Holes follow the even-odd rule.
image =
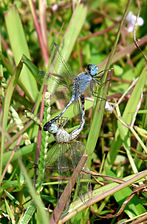
[[[88,87],[90,86],[91,94],[93,96],[98,97],[97,92],[94,91],[94,84],[101,86],[101,79],[104,75],[103,73],[98,72],[98,67],[96,65],[89,64],[85,72],[78,74],[74,78],[73,92],[67,106],[58,116],[45,123],[43,127],[44,131],[48,131],[50,134],[53,134],[55,141],[57,142],[54,148],[55,149],[58,148],[60,151],[57,166],[58,166],[58,172],[61,175],[63,175],[64,170],[66,170],[65,166],[66,156],[63,155],[63,152],[68,152],[70,154],[72,168],[75,168],[77,166],[80,157],[84,153],[85,149],[84,145],[81,142],[75,140],[75,138],[78,137],[78,135],[81,133],[85,124],[85,97],[83,95],[83,92],[87,90]],[[64,126],[68,122],[68,119],[65,119],[62,115],[65,113],[65,111],[69,108],[69,106],[73,102],[78,101],[79,99],[81,102],[81,123],[77,129],[75,129],[69,134],[64,129]],[[54,164],[53,166],[55,168]]]

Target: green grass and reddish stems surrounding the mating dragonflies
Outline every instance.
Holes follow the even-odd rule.
[[[145,0],[0,1],[0,223],[145,223],[146,6]],[[129,11],[144,19],[130,33]],[[71,67],[71,77],[64,77],[66,88],[43,78],[53,42]],[[46,154],[57,159],[59,151],[53,151],[53,136],[41,125],[66,106],[70,79],[90,63],[106,70],[99,97],[114,110],[105,111],[105,100],[85,93],[86,124],[78,140],[93,172],[92,192],[75,201],[79,185],[74,196],[67,186],[73,201],[61,216],[68,197],[56,207],[59,180],[51,172],[44,179]],[[55,68],[61,75],[62,66],[56,63]],[[40,126],[26,117],[26,110],[40,118]],[[73,105],[65,116],[71,132],[80,122]]]

